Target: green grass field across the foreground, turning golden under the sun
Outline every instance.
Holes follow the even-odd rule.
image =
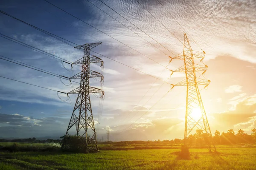
[[[102,150],[99,153],[1,152],[0,170],[256,170],[256,148]]]

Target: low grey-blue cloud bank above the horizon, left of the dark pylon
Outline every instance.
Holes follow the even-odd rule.
[[[0,136],[3,138],[63,136],[69,120],[70,118],[61,117],[35,119],[20,114],[0,114]]]

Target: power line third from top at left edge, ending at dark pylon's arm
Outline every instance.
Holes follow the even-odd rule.
[[[4,56],[0,55],[0,59],[3,59],[3,58],[1,58],[1,57],[4,57]],[[10,58],[8,58],[8,57],[4,57],[4,58],[6,58],[6,59],[3,59],[3,60],[6,60],[6,61],[8,61],[8,62],[12,62],[12,63],[15,63],[15,64],[17,64],[17,65],[21,65],[21,66],[24,66],[24,67],[27,67],[27,68],[31,68],[31,69],[36,70],[36,71],[41,71],[42,73],[45,73],[45,74],[49,74],[49,75],[52,75],[52,76],[55,76],[55,77],[59,77],[59,78],[61,78],[61,79],[65,79],[65,80],[69,80],[69,81],[75,82],[75,81],[73,81],[73,80],[70,80],[68,77],[61,76],[61,75],[52,73],[52,72],[50,72],[50,71],[46,71],[46,70],[44,70],[44,69],[37,68],[37,67],[34,67],[34,66],[32,66],[32,65],[28,65],[28,64],[25,64],[25,63],[23,63],[23,62],[19,62],[19,61],[16,61],[16,60],[14,60],[14,59],[11,59],[11,60],[15,61],[15,62],[13,62],[13,61],[9,60]],[[19,62],[19,63],[18,63],[18,62]],[[20,64],[20,63],[21,63],[21,64]],[[76,82],[76,83],[77,83],[77,82]]]

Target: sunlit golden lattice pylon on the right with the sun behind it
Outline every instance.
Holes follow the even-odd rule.
[[[176,57],[170,57],[172,59],[183,60],[184,65],[178,68],[174,72],[184,72],[186,74],[186,79],[173,85],[174,86],[186,86],[186,116],[185,116],[185,133],[184,133],[184,144],[187,145],[187,138],[194,128],[201,129],[205,133],[205,139],[209,145],[209,150],[215,150],[215,146],[212,145],[212,133],[209,127],[209,122],[207,119],[206,112],[204,110],[204,105],[201,99],[200,91],[198,85],[205,85],[207,87],[210,80],[201,79],[197,77],[196,72],[202,72],[203,75],[207,70],[207,65],[202,63],[204,59],[205,52],[192,51],[189,40],[184,34],[184,47],[183,54],[179,54]],[[198,64],[195,63],[196,59],[201,59]],[[199,60],[198,60],[199,61]],[[172,75],[171,74],[171,75]]]

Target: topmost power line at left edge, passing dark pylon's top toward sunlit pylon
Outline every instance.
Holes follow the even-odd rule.
[[[7,14],[6,12],[0,11],[0,13],[6,14],[6,15],[8,15],[8,16],[10,16],[10,17],[16,19],[16,20],[19,20],[19,19],[13,17],[13,16]],[[32,26],[31,24],[28,24],[28,23],[26,23],[26,22],[24,22],[24,21],[22,21],[22,20],[19,20],[19,21],[22,22],[22,23],[25,23],[26,25],[31,26],[31,27],[33,27],[33,28],[35,28],[35,29],[38,28],[38,27]],[[50,36],[53,37],[53,38],[58,37],[58,36],[56,36],[55,34],[49,33],[49,32],[47,32],[47,31],[43,31],[41,28],[38,28],[37,30],[39,30],[39,31],[41,31],[41,32],[43,32],[43,33],[45,33],[45,34],[48,33],[47,35],[50,35]],[[47,32],[47,33],[46,33],[46,32]],[[59,38],[61,38],[61,37],[59,37]],[[56,38],[56,39],[57,39],[57,38]],[[61,39],[66,40],[66,39],[64,39],[64,38],[61,38]],[[59,39],[57,39],[57,40],[59,40]],[[68,40],[67,40],[67,41],[68,41]],[[63,42],[63,41],[62,41],[62,42]],[[65,43],[66,43],[66,42],[65,42]],[[72,43],[73,43],[73,42],[72,42]],[[73,44],[75,44],[75,43],[73,43]],[[68,45],[70,45],[70,44],[68,44]],[[76,44],[76,45],[77,45],[77,44]],[[74,47],[74,45],[70,45],[70,46]],[[91,50],[91,51],[92,51],[92,50]],[[95,52],[95,51],[92,51],[92,52],[94,52],[94,53],[96,53],[96,54],[99,54],[99,53],[97,53],[97,52]],[[101,55],[101,56],[103,56],[103,57],[106,57],[106,58],[108,58],[108,59],[111,59],[110,57],[107,57],[107,56],[105,56],[105,55],[103,55],[103,54],[99,54],[99,55]],[[138,69],[136,69],[136,68],[133,68],[133,67],[131,67],[131,66],[128,66],[128,65],[126,65],[126,64],[123,64],[122,62],[119,62],[119,61],[117,61],[117,60],[115,60],[115,59],[111,59],[111,60],[113,60],[113,61],[115,61],[115,62],[118,62],[119,64],[125,65],[125,66],[127,66],[127,67],[129,67],[129,68],[132,68],[132,69],[134,69],[134,70],[136,70],[136,71],[139,71],[139,72],[141,72],[141,73],[143,73],[143,74],[146,74],[146,75],[148,75],[148,76],[150,76],[150,77],[154,77],[154,76],[152,76],[152,75],[150,75],[150,74],[147,74],[147,73],[145,73],[145,72],[143,72],[143,71],[140,71],[140,70],[138,70]],[[157,77],[154,77],[154,78],[155,78],[155,79],[159,79],[159,78],[157,78]],[[159,80],[165,82],[165,81],[162,80],[162,79],[159,79]],[[168,82],[166,82],[166,83],[168,83]],[[169,83],[168,83],[168,84],[169,84]]]

